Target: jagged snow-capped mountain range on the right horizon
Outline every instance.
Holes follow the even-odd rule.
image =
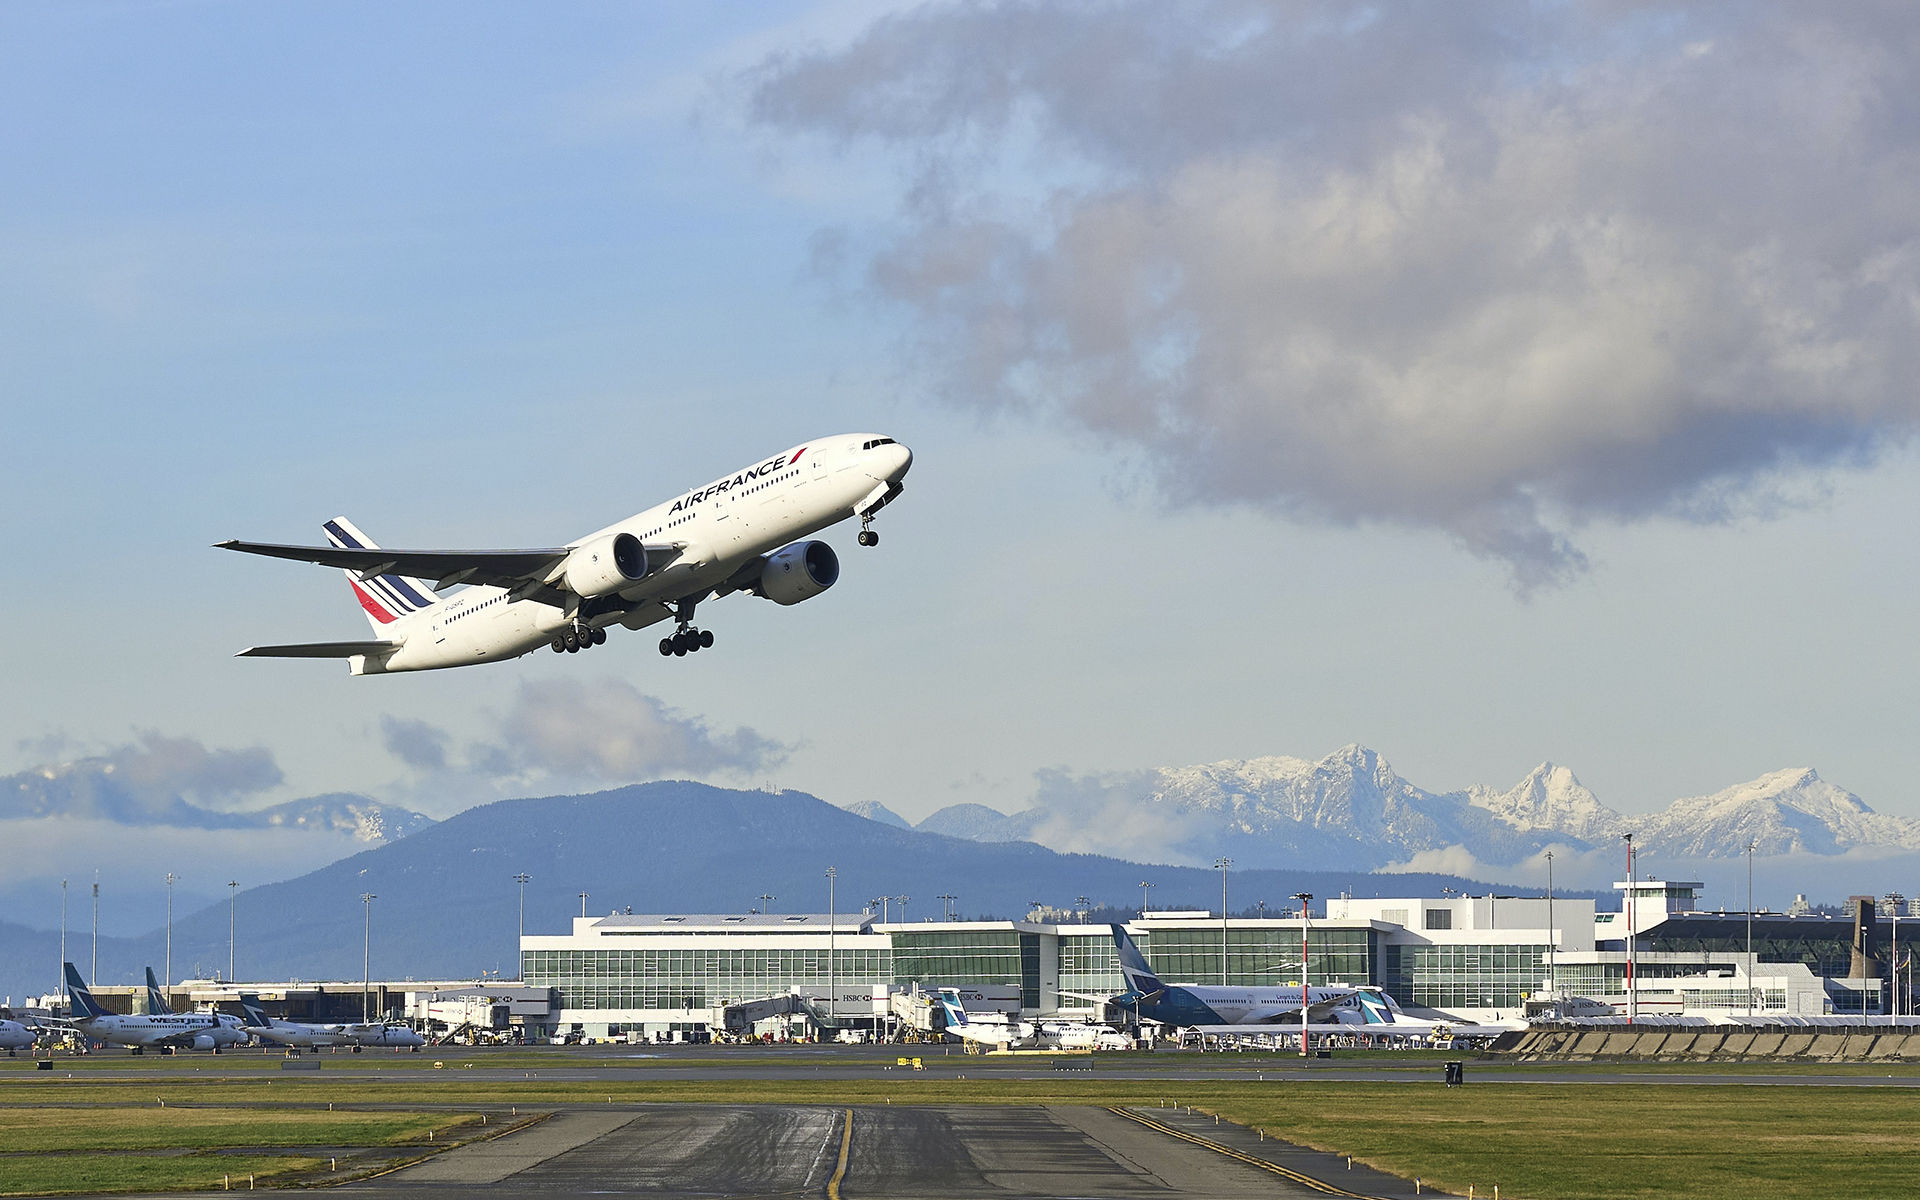
[[[868,816],[900,822],[889,810]],[[1920,822],[1874,812],[1809,768],[1628,816],[1553,762],[1507,789],[1427,791],[1359,745],[1317,762],[1236,758],[1060,778],[1021,812],[950,804],[914,828],[1058,851],[1152,852],[1185,864],[1227,854],[1244,866],[1308,858],[1342,870],[1394,868],[1450,849],[1465,849],[1482,864],[1517,864],[1548,849],[1611,849],[1622,833],[1634,833],[1642,852],[1668,858],[1738,858],[1749,845],[1763,856],[1920,851]]]

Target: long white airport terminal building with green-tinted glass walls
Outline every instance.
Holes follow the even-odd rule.
[[[1853,975],[1860,933],[1847,922],[1699,912],[1699,883],[1617,889],[1617,912],[1596,912],[1590,899],[1336,897],[1308,922],[1148,912],[1127,927],[1167,981],[1298,985],[1304,935],[1308,983],[1375,985],[1409,1012],[1463,1021],[1563,998],[1590,1014],[1887,1012],[1885,981]],[[1023,1016],[1098,1016],[1098,996],[1125,991],[1106,925],[889,924],[866,912],[574,918],[564,935],[526,935],[520,972],[526,989],[551,996],[530,1033],[595,1039],[708,1029],[724,1006],[781,995],[816,1018],[881,1025],[899,1010],[891,996],[935,987]]]

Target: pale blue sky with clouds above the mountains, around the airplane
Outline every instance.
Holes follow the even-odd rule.
[[[1363,743],[1430,791],[1814,766],[1920,816],[1916,35],[0,6],[0,774],[920,818]],[[232,657],[365,634],[219,540],[553,545],[847,430],[916,455],[881,545],[833,530],[839,586],[705,609],[699,657]]]

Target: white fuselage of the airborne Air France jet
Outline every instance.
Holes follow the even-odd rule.
[[[691,488],[622,522],[570,541],[632,534],[645,545],[684,547],[662,570],[620,591],[626,611],[589,624],[639,630],[668,620],[666,601],[703,595],[741,566],[789,541],[854,516],[912,463],[904,445],[872,434],[839,434],[789,447],[733,474]],[[553,643],[574,616],[555,605],[513,599],[501,588],[465,588],[396,620],[384,637],[401,647],[384,660],[353,659],[353,674],[436,670],[516,659]]]

